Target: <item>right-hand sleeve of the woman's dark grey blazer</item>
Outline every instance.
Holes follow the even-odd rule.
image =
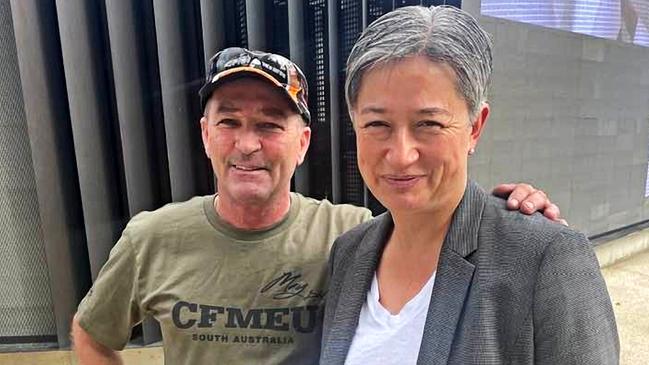
[[[588,239],[562,231],[546,247],[534,291],[537,364],[617,364],[620,345],[606,284]]]

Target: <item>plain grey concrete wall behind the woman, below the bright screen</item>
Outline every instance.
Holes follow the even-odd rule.
[[[531,182],[589,235],[648,219],[649,48],[477,17],[494,73],[472,177]]]

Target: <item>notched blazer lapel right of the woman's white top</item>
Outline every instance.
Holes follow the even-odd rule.
[[[478,248],[486,193],[469,181],[455,210],[440,255],[417,364],[446,364],[475,266],[466,257]]]

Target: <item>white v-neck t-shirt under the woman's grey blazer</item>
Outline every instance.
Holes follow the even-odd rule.
[[[345,365],[416,364],[434,283],[435,273],[399,314],[392,315],[379,303],[374,273]]]

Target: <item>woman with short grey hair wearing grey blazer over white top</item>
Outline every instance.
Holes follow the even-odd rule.
[[[475,19],[400,8],[361,35],[347,70],[358,165],[389,212],[334,244],[321,363],[616,363],[588,240],[467,178],[489,115],[491,45]]]

